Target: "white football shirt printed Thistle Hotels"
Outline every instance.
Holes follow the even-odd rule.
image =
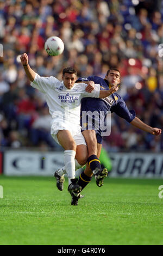
[[[80,125],[80,101],[83,97],[99,97],[100,86],[95,84],[95,89],[87,93],[85,83],[75,83],[71,89],[67,89],[64,82],[57,78],[35,75],[32,87],[45,93],[49,113],[52,115],[52,123],[67,123]]]

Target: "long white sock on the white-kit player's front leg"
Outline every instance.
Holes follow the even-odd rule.
[[[65,169],[68,176],[68,185],[71,184],[71,179],[76,177],[76,166],[74,157],[76,156],[76,151],[74,150],[65,150],[64,151],[64,162],[65,162]],[[60,175],[60,172],[58,172]]]

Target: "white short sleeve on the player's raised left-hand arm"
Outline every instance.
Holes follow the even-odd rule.
[[[39,76],[38,74],[35,75],[34,81],[30,83],[30,85],[42,93],[47,93],[49,89],[55,87],[59,80],[53,76],[45,77]]]

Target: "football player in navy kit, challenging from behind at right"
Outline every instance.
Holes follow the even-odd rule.
[[[101,90],[108,90],[111,87],[120,86],[120,71],[116,68],[111,68],[107,71],[105,78],[101,78],[98,76],[89,76],[87,78],[78,78],[77,82],[84,82],[87,84],[100,84]],[[148,126],[147,124],[143,123],[139,118],[136,117],[135,111],[129,111],[128,107],[126,106],[126,103],[122,99],[120,95],[117,93],[113,93],[109,97],[106,97],[105,99],[95,99],[95,98],[83,98],[82,104],[81,104],[81,126],[83,126],[82,121],[82,112],[89,112],[92,113],[94,111],[97,111],[98,113],[101,113],[103,111],[104,113],[104,119],[106,119],[106,114],[108,111],[115,112],[119,117],[126,119],[130,124],[134,125],[135,127],[152,133],[153,135],[160,135],[161,129],[154,128],[151,126]],[[93,122],[92,122],[93,123]],[[83,127],[82,127],[83,128]],[[83,136],[85,138],[87,149],[88,149],[88,160],[87,160],[87,166],[86,169],[83,171],[82,174],[79,176],[78,184],[82,186],[83,188],[89,184],[89,182],[92,179],[93,173],[90,169],[90,162],[92,161],[89,159],[90,156],[96,155],[99,159],[99,156],[101,154],[102,149],[102,130],[99,126],[99,129],[95,129],[95,125],[92,126],[92,130],[89,130],[89,127],[86,127],[88,130],[83,130]],[[98,161],[96,159],[96,161]],[[105,178],[105,172],[104,177]],[[103,179],[101,180],[100,184],[97,184],[98,186],[103,185]],[[78,199],[82,198],[80,194],[72,194],[72,204],[77,205]]]

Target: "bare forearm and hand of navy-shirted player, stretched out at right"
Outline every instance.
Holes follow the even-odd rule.
[[[159,128],[154,128],[154,127],[151,127],[145,123],[143,123],[143,121],[141,121],[139,118],[135,117],[133,121],[131,121],[132,125],[134,125],[135,127],[143,130],[143,131],[146,131],[146,132],[149,132],[153,135],[160,135],[161,134],[161,129]]]

